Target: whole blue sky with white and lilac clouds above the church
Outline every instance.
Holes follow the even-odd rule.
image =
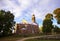
[[[16,23],[23,19],[32,22],[32,15],[35,14],[36,22],[42,25],[47,13],[52,13],[56,8],[60,8],[60,0],[0,0],[0,10],[11,11],[15,16]],[[53,24],[57,25],[56,19]]]

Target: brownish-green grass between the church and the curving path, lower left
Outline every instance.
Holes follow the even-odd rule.
[[[37,35],[32,35],[32,34],[30,34],[30,35],[11,35],[11,36],[6,36],[6,37],[0,37],[0,41],[16,41],[16,40],[20,40],[25,37],[32,37],[32,36],[37,36]]]

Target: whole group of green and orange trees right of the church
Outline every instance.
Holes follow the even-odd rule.
[[[60,33],[60,28],[57,25],[53,25],[54,18],[57,20],[57,23],[60,24],[60,8],[57,8],[53,11],[53,14],[48,13],[43,20],[42,31],[45,34],[48,33]]]

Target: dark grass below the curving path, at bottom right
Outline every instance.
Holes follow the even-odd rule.
[[[55,35],[56,37],[60,37],[60,34]],[[50,36],[50,38],[47,37],[41,37],[41,38],[35,38],[35,39],[27,39],[25,41],[60,41],[60,39],[58,38],[51,38],[51,37],[55,37],[55,36]]]

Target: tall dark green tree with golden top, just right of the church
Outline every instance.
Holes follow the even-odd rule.
[[[52,19],[53,19],[53,15],[48,13],[46,16],[45,16],[45,19],[43,20],[43,33],[50,33],[51,32],[51,29],[53,28],[53,25],[52,25]]]

